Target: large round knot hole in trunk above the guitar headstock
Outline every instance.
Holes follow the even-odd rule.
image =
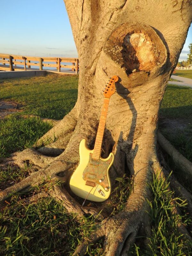
[[[104,52],[114,60],[127,75],[145,71],[166,61],[167,50],[156,31],[148,25],[125,23],[116,28],[104,47]]]

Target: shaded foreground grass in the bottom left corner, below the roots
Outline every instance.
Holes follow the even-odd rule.
[[[94,229],[94,219],[68,214],[53,198],[24,205],[14,199],[0,213],[0,255],[71,255]],[[92,250],[95,255],[100,249]],[[90,255],[89,253],[87,255]],[[93,254],[91,254],[93,255]]]

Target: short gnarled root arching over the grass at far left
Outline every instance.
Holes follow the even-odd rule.
[[[34,148],[27,148],[21,152],[15,152],[9,158],[1,159],[1,162],[5,165],[18,165],[20,168],[24,168],[26,161],[34,164],[38,169],[45,167],[54,160],[54,157],[44,156],[37,152]]]

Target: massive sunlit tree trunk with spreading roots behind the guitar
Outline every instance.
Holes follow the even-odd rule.
[[[40,184],[42,177],[46,180],[62,172],[63,180],[68,179],[78,163],[80,141],[85,138],[90,149],[94,146],[102,88],[116,75],[119,81],[109,103],[102,148],[105,157],[112,150],[115,153],[119,176],[126,162],[134,177],[134,192],[125,210],[102,222],[92,241],[105,236],[106,255],[126,255],[141,223],[145,223],[146,198],[150,197],[147,184],[152,173],[161,169],[156,154],[158,111],[192,20],[192,1],[65,0],[65,4],[79,55],[78,99],[73,110],[42,138],[58,137],[39,150],[50,156],[49,164],[39,161],[41,170],[2,191],[1,200],[13,189]],[[33,152],[30,161],[36,164],[34,157]],[[15,159],[18,164],[28,157],[16,155],[9,161]],[[111,170],[110,176],[114,184],[116,173]],[[74,202],[74,207],[70,204],[67,209],[79,214],[81,207],[75,200],[69,194],[65,198]],[[83,255],[87,243],[74,255]]]

